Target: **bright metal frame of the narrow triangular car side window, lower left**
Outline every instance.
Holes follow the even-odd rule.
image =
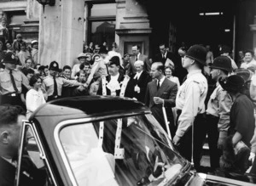
[[[23,124],[24,123],[24,124]],[[52,181],[53,181],[53,183],[54,183],[54,185],[57,185],[57,183],[56,183],[56,181],[55,181],[55,177],[54,177],[54,174],[53,174],[53,172],[52,172],[52,170],[51,170],[51,167],[49,166],[49,161],[48,161],[48,159],[46,158],[46,155],[45,155],[45,151],[44,151],[44,148],[43,148],[43,145],[42,145],[42,143],[41,143],[41,140],[40,140],[40,138],[39,138],[39,136],[38,136],[38,132],[37,132],[37,130],[36,130],[36,128],[35,128],[35,124],[32,122],[30,122],[30,121],[27,121],[27,120],[23,120],[22,121],[22,129],[21,129],[21,135],[20,135],[20,138],[21,138],[21,140],[20,140],[20,149],[19,149],[19,161],[18,161],[18,169],[17,169],[17,178],[16,178],[16,186],[19,186],[19,182],[20,182],[20,164],[21,164],[21,154],[22,154],[22,149],[23,149],[23,144],[24,144],[24,141],[22,140],[22,139],[24,139],[23,137],[24,137],[24,135],[25,135],[25,130],[26,130],[26,126],[28,126],[28,127],[31,127],[31,129],[32,129],[32,133],[33,133],[33,135],[34,135],[34,138],[35,138],[35,140],[36,140],[36,143],[37,143],[37,146],[38,146],[38,149],[39,149],[39,154],[40,154],[40,157],[42,158],[42,159],[44,159],[44,161],[46,162],[46,166],[47,166],[47,168],[48,168],[48,170],[49,170],[49,174],[50,174],[50,177],[51,177],[51,179],[52,179]]]

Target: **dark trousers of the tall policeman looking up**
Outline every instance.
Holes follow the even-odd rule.
[[[179,116],[177,112],[177,116]],[[194,150],[193,150],[193,161],[195,169],[200,167],[202,146],[205,141],[206,123],[203,114],[195,116],[194,121]],[[192,158],[192,126],[190,126],[180,139],[177,149],[184,158],[191,161]]]

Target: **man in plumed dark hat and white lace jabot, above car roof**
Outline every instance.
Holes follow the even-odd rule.
[[[119,96],[121,92],[121,82],[124,75],[119,73],[120,60],[118,56],[109,59],[108,76],[102,76],[102,80],[97,91],[98,95]]]

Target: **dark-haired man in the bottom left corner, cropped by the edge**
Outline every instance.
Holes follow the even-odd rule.
[[[15,185],[22,120],[26,116],[20,106],[0,106],[0,186]],[[20,172],[21,186],[44,185],[46,181],[44,169],[37,169],[27,153],[21,157]]]

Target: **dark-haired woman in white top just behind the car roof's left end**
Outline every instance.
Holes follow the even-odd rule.
[[[45,103],[44,96],[41,86],[43,80],[39,75],[32,76],[29,81],[29,85],[32,87],[26,93],[26,118],[28,119],[32,113],[38,109],[41,104]]]

